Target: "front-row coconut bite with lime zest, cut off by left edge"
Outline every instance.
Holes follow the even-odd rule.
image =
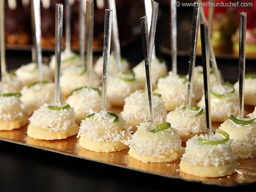
[[[28,123],[21,109],[20,93],[0,94],[0,130],[18,129]]]

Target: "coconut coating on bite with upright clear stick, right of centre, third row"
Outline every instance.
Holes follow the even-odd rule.
[[[179,103],[186,102],[187,83],[184,83],[184,78],[180,78],[178,74],[172,71],[168,72],[168,76],[158,79],[158,84],[154,92],[161,94],[161,98],[165,103]],[[166,110],[169,110],[166,108]]]

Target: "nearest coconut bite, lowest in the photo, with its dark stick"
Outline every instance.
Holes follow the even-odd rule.
[[[218,130],[212,134],[209,88],[209,38],[207,24],[201,24],[202,64],[204,68],[204,96],[206,106],[206,135],[196,135],[186,142],[185,152],[180,158],[182,172],[198,177],[220,177],[231,175],[238,165],[231,147],[228,133]],[[205,47],[205,49],[204,49]]]

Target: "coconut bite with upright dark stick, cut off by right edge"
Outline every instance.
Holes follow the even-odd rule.
[[[233,140],[231,146],[239,158],[253,158],[256,156],[256,119],[244,118],[246,16],[246,12],[239,14],[239,115],[238,118],[231,115],[219,127],[220,130],[224,130],[230,135]]]

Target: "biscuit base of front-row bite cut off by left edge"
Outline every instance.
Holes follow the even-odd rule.
[[[24,118],[14,120],[14,121],[0,121],[0,130],[1,131],[9,131],[18,129],[28,123],[28,117],[24,116]]]

